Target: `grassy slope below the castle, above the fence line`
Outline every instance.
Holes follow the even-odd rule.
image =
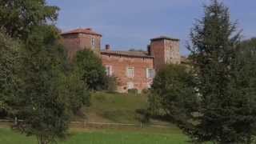
[[[147,98],[143,94],[117,94],[97,92],[92,94],[91,106],[83,108],[89,122],[138,123],[135,111],[146,109]]]

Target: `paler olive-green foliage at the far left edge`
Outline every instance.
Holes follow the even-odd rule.
[[[18,50],[20,45],[4,31],[0,32],[0,113],[6,115],[9,98],[15,94]]]

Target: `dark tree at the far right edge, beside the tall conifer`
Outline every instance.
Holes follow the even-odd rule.
[[[232,123],[240,142],[254,143],[256,136],[256,41],[242,42],[232,62],[230,93],[234,96]]]

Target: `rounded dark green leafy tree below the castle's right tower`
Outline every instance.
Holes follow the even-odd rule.
[[[197,108],[197,94],[190,70],[182,65],[167,65],[158,71],[150,90],[150,114],[166,116],[171,122],[186,121]]]

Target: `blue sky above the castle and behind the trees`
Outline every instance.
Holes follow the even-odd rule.
[[[238,20],[244,38],[256,36],[256,1],[222,0]],[[102,46],[113,50],[144,49],[150,38],[167,35],[181,39],[181,54],[195,18],[203,15],[209,0],[47,0],[61,8],[58,27],[62,30],[91,27],[103,35]]]

